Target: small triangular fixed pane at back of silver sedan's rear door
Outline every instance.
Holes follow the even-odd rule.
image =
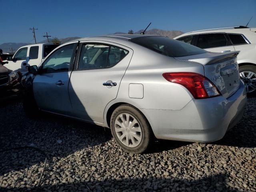
[[[122,60],[128,54],[127,50],[124,50],[119,47],[111,46],[108,56],[108,64],[107,67],[114,66],[120,60]]]

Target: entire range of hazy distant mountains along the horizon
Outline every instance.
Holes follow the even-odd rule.
[[[134,34],[140,34],[140,32],[143,32],[144,30],[139,30],[137,32],[135,32]],[[115,32],[114,34],[126,34],[124,32]],[[175,30],[161,30],[161,29],[151,29],[151,30],[147,30],[145,32],[145,34],[149,34],[149,35],[160,35],[160,36],[167,36],[169,38],[174,38],[176,36],[179,36],[181,34],[183,34],[183,32],[181,31],[175,31]],[[66,43],[68,41],[72,41],[75,39],[79,39],[80,37],[67,37],[67,38],[60,38],[59,40],[62,43]],[[49,39],[51,40],[51,39]],[[47,43],[47,40],[43,40],[41,42],[38,43]],[[16,52],[16,50],[18,50],[18,48],[25,46],[25,45],[29,45],[31,43],[3,43],[0,44],[0,48],[3,50],[3,52],[11,52],[10,48],[12,47],[13,51]]]

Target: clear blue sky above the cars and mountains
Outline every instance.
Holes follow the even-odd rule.
[[[256,27],[256,0],[0,0],[0,44],[33,43],[45,32],[58,38],[134,32],[145,28],[189,32],[246,25]]]

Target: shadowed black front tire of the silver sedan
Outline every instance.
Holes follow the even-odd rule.
[[[36,104],[36,100],[34,98],[34,94],[32,90],[24,91],[22,95],[22,104],[23,109],[26,115],[30,118],[35,118],[39,114],[39,108]]]

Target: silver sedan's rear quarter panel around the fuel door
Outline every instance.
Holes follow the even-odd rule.
[[[133,50],[134,54],[122,78],[117,98],[108,104],[106,111],[118,102],[132,104],[139,109],[180,110],[192,100],[193,96],[185,87],[168,82],[162,74],[197,72],[204,75],[202,65],[178,61],[141,46]],[[142,84],[143,98],[130,98],[129,84]]]

